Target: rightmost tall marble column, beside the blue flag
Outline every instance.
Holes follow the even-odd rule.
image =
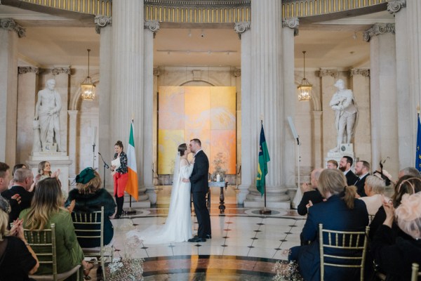
[[[412,4],[411,4],[412,5]],[[390,0],[387,10],[394,14],[396,36],[396,95],[398,99],[398,132],[399,132],[399,169],[415,164],[415,138],[413,132],[416,119],[416,105],[410,91],[410,44],[412,34],[408,30],[408,11],[406,1]],[[419,15],[418,15],[419,17]],[[414,22],[412,22],[414,25]],[[419,35],[417,35],[419,37]],[[412,105],[412,106],[408,106]]]

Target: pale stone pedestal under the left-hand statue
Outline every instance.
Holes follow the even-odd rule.
[[[51,171],[60,169],[58,178],[62,183],[62,190],[69,193],[69,167],[72,160],[66,155],[66,152],[32,152],[29,155],[26,164],[32,170],[34,176],[38,174],[38,164],[41,161],[48,161],[51,164]]]

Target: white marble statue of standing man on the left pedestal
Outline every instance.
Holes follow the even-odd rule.
[[[60,141],[60,93],[55,91],[55,80],[49,79],[46,88],[38,92],[35,105],[35,120],[39,119],[40,141],[42,150],[49,150],[48,145],[57,143],[57,150],[62,151]]]

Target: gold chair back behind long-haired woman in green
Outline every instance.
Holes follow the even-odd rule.
[[[53,280],[57,280],[57,254],[55,252],[55,224],[51,223],[51,229],[23,230],[25,240],[34,250],[39,264],[51,266]]]

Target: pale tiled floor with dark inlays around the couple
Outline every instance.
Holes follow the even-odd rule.
[[[138,209],[133,216],[113,220],[114,252],[121,256],[125,234],[166,221],[171,189],[160,187],[155,208]],[[215,190],[218,191],[218,190]],[[214,199],[215,198],[215,199]],[[236,204],[236,190],[225,192],[225,214],[220,214],[219,192],[212,193],[212,239],[199,243],[141,244],[133,258],[145,259],[145,280],[271,280],[276,261],[285,261],[290,247],[300,244],[305,217],[294,210],[273,209],[262,216],[258,209]],[[192,214],[195,233],[196,217]],[[94,271],[94,270],[93,270]],[[95,273],[91,273],[95,280]]]

